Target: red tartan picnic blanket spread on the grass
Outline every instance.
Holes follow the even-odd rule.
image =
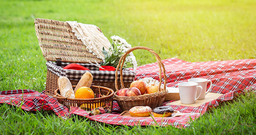
[[[177,58],[162,60],[166,69],[168,87],[177,87],[179,82],[187,79],[201,77],[213,82],[210,92],[224,94],[219,98],[202,104],[200,107],[188,107],[170,105],[181,113],[205,113],[210,107],[217,107],[221,102],[232,100],[244,89],[256,88],[256,59],[242,59],[229,61],[187,62]],[[159,80],[159,67],[157,63],[146,64],[137,67],[135,80],[144,77],[152,77]],[[163,77],[163,74],[162,74]],[[208,86],[209,87],[209,86]],[[84,116],[90,120],[116,125],[172,125],[176,128],[186,128],[189,122],[200,117],[198,115],[183,115],[179,117],[150,118],[150,117],[126,117],[119,116],[120,108],[113,101],[112,114],[105,113],[89,116],[81,109],[69,112],[67,107],[58,104],[51,96],[29,89],[0,91],[0,103],[6,103],[21,107],[26,111],[52,110],[57,116],[66,119],[71,114]],[[163,105],[173,101],[164,102]]]

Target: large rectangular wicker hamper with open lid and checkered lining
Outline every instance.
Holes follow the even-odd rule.
[[[72,32],[71,26],[69,26],[67,22],[36,18],[34,23],[39,46],[43,56],[47,60],[45,85],[45,93],[47,95],[54,95],[54,90],[58,88],[57,79],[60,76],[68,77],[72,85],[77,85],[83,73],[88,71],[79,70],[81,71],[78,73],[79,75],[72,75],[71,70],[63,69],[65,65],[77,63],[82,66],[89,66],[87,68],[90,70],[96,70],[97,67],[93,67],[87,63],[95,63],[94,61],[100,63],[102,61],[89,52],[81,40],[77,39],[74,32]],[[97,29],[101,32],[100,28],[97,27]],[[129,76],[126,77],[127,79],[124,85],[129,86],[135,78],[135,72],[128,69],[125,70]],[[66,75],[66,73],[70,74]],[[101,73],[105,73],[105,76],[101,76]],[[97,74],[96,78],[94,74]],[[115,83],[115,71],[102,71],[94,74],[92,85],[115,89],[115,85],[113,85]],[[109,74],[112,74],[113,77],[106,79],[106,76]],[[121,86],[120,82],[118,82],[118,85]]]

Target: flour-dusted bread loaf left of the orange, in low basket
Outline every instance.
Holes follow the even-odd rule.
[[[73,91],[72,84],[65,76],[60,76],[58,79],[58,85],[60,95],[65,98],[75,98],[75,92]]]

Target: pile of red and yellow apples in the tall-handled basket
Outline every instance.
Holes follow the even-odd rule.
[[[155,93],[158,91],[158,86],[150,84],[146,86],[146,83],[140,80],[133,81],[130,85],[130,88],[123,88],[117,91],[116,95],[118,96],[139,96],[143,94]]]

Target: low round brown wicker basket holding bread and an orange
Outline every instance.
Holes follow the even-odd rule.
[[[75,87],[76,85],[73,85],[73,88]],[[94,108],[108,106],[112,111],[114,91],[110,88],[94,85],[91,86],[91,89],[95,95],[95,98],[92,99],[65,98],[60,95],[58,88],[54,91],[55,95],[53,97],[57,98],[58,102],[68,109],[71,109],[71,107],[81,107],[85,111],[91,111]]]

